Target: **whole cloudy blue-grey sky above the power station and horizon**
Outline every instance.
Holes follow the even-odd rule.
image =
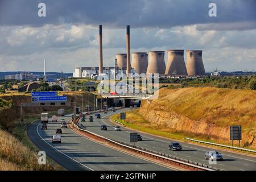
[[[131,52],[201,49],[207,72],[256,71],[255,0],[0,0],[0,72],[97,67],[99,24],[105,67],[126,53],[129,24]]]

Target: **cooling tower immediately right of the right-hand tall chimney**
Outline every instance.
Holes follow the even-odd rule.
[[[131,53],[131,67],[138,73],[147,72],[147,53],[146,52],[133,52]]]

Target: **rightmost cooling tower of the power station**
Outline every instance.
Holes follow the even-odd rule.
[[[189,76],[205,75],[202,51],[187,51],[186,67]]]

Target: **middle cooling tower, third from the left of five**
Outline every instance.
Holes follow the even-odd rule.
[[[149,51],[148,56],[147,73],[159,73],[159,75],[163,75],[166,71],[164,51]]]

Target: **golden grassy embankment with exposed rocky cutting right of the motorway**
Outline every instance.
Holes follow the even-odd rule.
[[[242,125],[242,147],[256,148],[256,92],[218,88],[160,89],[158,100],[127,112],[125,126],[163,137],[230,144],[229,126]],[[118,119],[119,115],[111,118]],[[238,142],[235,142],[236,144]]]

